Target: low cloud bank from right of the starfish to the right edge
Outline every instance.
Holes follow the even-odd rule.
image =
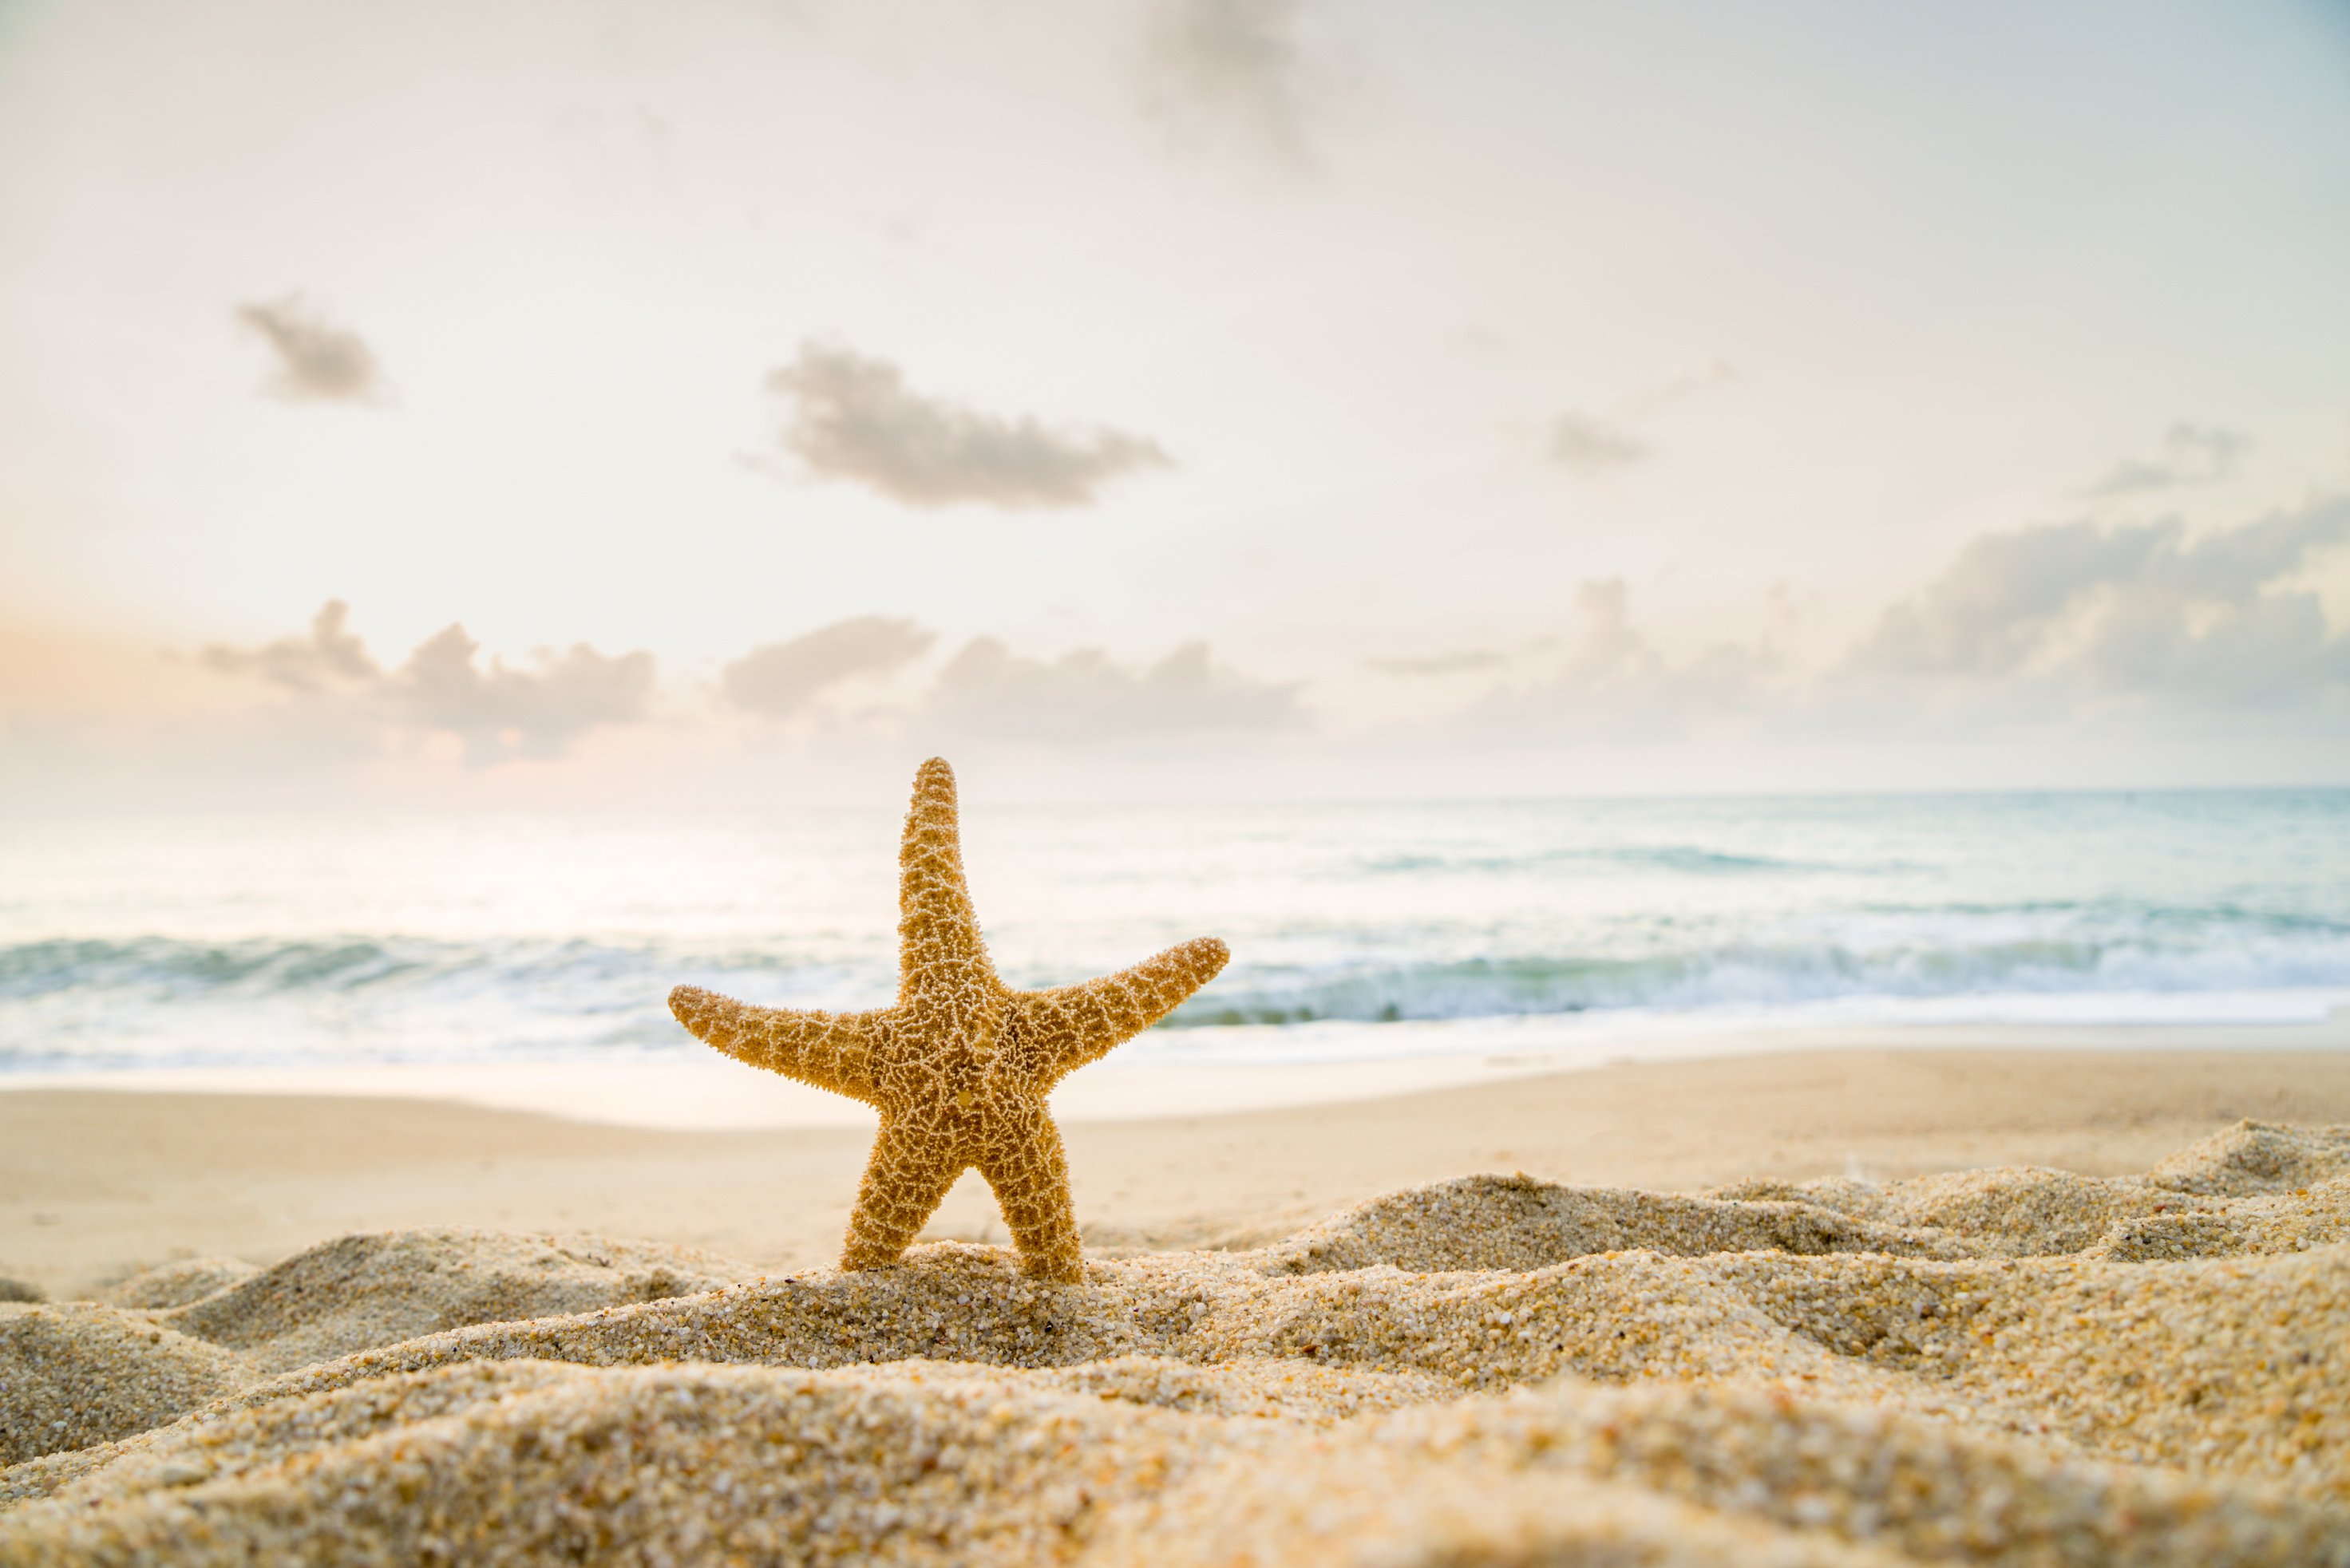
[[[1962,717],[1967,733],[2136,715],[2176,733],[2211,719],[2277,733],[2350,715],[2350,628],[2312,585],[2350,545],[2350,496],[2190,534],[2178,520],[2056,522],[1969,541],[1826,663],[1774,637],[1671,654],[1622,578],[1560,616],[1565,649],[1530,679],[1509,649],[1375,658],[1386,675],[1492,670],[1441,722],[1455,736],[1657,741],[1708,726],[1882,741]],[[1908,731],[1906,731],[1908,733]]]

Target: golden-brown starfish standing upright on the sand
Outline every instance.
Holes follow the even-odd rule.
[[[679,985],[677,1023],[738,1063],[881,1112],[844,1269],[905,1255],[968,1168],[978,1168],[1032,1279],[1083,1279],[1069,1161],[1046,1095],[1213,980],[1231,950],[1213,936],[1081,985],[1013,990],[996,978],[964,884],[954,769],[914,773],[898,851],[898,1001],[867,1013],[750,1006]]]

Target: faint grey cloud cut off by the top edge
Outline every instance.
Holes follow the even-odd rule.
[[[1311,169],[1316,73],[1300,0],[1159,0],[1142,28],[1142,110],[1177,146]]]

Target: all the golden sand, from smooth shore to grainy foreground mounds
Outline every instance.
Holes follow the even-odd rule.
[[[1130,1124],[1095,1182],[1182,1147],[1269,1168],[1198,1180],[1163,1220],[1224,1225],[1222,1248],[1147,1246],[1154,1211],[1102,1204],[1128,1239],[1072,1286],[968,1239],[841,1274],[679,1234],[724,1213],[649,1241],[444,1222],[282,1258],[193,1225],[214,1255],[103,1288],[0,1253],[61,1298],[0,1305],[0,1563],[2350,1563],[2350,1114],[2209,1124],[2228,1100],[2338,1107],[2345,1067],[1786,1058]],[[219,1147],[207,1114],[240,1117],[247,1192],[400,1168],[367,1166],[327,1103],[308,1140],[254,1147],[301,1103],[181,1103],[174,1145],[143,1121],[169,1105],[125,1098],[96,1133],[85,1100],[49,1103],[56,1164],[118,1206]],[[1570,1103],[1650,1128],[1582,1159],[1697,1178],[1551,1180],[1574,1175],[1539,1143],[1577,1131]],[[0,1105],[14,1128],[28,1107]],[[545,1171],[693,1164],[616,1128],[343,1112],[418,1173],[501,1121],[545,1140]],[[1497,1138],[1544,1175],[1405,1180],[1267,1227],[1285,1117],[1332,1182],[1490,1166]],[[1953,1168],[1969,1147],[2035,1157]],[[40,1201],[103,1213],[47,1180]],[[1250,1218],[1267,1234],[1236,1234]]]

